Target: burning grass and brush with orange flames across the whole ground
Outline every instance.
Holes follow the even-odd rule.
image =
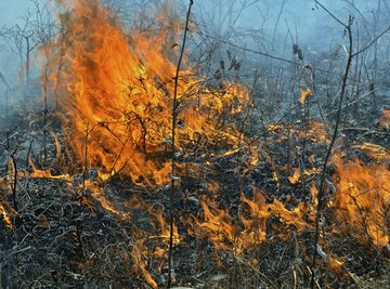
[[[62,120],[51,134],[53,166],[35,165],[28,148],[25,170],[9,166],[0,180],[1,281],[20,288],[164,287],[167,192],[178,178],[170,175],[169,159],[172,43],[181,22],[127,31],[94,0],[75,1],[61,21],[63,34],[47,48]],[[188,63],[180,74],[174,284],[304,287],[314,251],[318,288],[386,276],[388,149],[336,147],[313,248],[326,124],[304,117],[249,135],[237,124],[252,108],[248,91],[229,81],[212,87]],[[306,105],[311,95],[302,89],[298,102]],[[386,114],[380,121],[386,127]],[[352,148],[376,162],[341,157]],[[8,194],[13,184],[17,211]]]

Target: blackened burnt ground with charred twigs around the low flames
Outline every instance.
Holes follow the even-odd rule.
[[[159,216],[168,219],[170,189],[146,189],[120,176],[107,182],[92,180],[87,185],[76,174],[32,178],[28,157],[39,168],[50,167],[53,175],[63,173],[64,165],[56,162],[55,142],[50,137],[55,133],[62,141],[61,127],[54,117],[20,119],[15,116],[2,133],[2,144],[9,152],[0,148],[1,197],[10,208],[13,206],[10,174],[14,172],[6,165],[10,155],[16,160],[18,171],[17,214],[10,213],[13,227],[6,227],[4,220],[0,222],[2,288],[150,288],[153,283],[147,283],[148,276],[155,286],[164,288],[168,276],[168,224],[161,223]],[[50,132],[44,132],[42,127],[48,123]],[[302,141],[302,131],[313,137]],[[207,165],[196,163],[194,168],[202,173],[183,178],[177,189],[174,208],[180,241],[173,251],[176,286],[309,287],[313,254],[309,216],[303,232],[277,218],[268,219],[265,239],[242,254],[217,250],[207,237],[193,234],[188,220],[190,215],[203,216],[199,201],[209,197],[220,209],[229,211],[231,223],[243,229],[237,216],[243,206],[240,196],[251,198],[253,186],[263,192],[266,202],[278,199],[289,210],[299,202],[312,201],[309,184],[318,174],[291,184],[286,168],[288,163],[292,167],[303,163],[304,169],[322,167],[327,139],[316,140],[313,133],[320,131],[301,122],[282,122],[259,133],[263,142],[255,168],[247,166],[242,152],[218,159],[210,157]],[[364,133],[346,129],[344,134],[346,147],[361,140],[389,144],[388,131],[375,126]],[[288,147],[295,148],[287,154]],[[347,152],[348,157],[359,154],[367,162],[375,161],[356,149]],[[329,180],[333,172],[330,166]],[[218,182],[219,187],[212,196],[208,189],[210,182]],[[112,205],[109,209],[105,201]],[[318,257],[317,288],[389,288],[389,248],[362,245],[353,237],[326,238],[326,252],[343,263],[335,268],[329,260]],[[230,240],[221,241],[230,245]]]

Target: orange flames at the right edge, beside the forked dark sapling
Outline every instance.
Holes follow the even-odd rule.
[[[385,247],[389,244],[390,171],[387,165],[343,162],[335,158],[337,182],[335,214],[362,244]],[[337,228],[336,228],[337,229]]]

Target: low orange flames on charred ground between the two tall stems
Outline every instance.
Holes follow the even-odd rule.
[[[272,216],[277,218],[285,228],[294,226],[297,232],[312,227],[314,220],[314,206],[301,202],[297,208],[289,210],[285,203],[274,199],[272,203],[265,202],[264,194],[253,189],[253,197],[249,199],[242,196],[242,209],[238,218],[232,218],[225,209],[220,209],[214,200],[200,201],[203,215],[192,216],[192,222],[185,222],[190,232],[200,239],[210,240],[217,250],[234,253],[237,257],[256,250],[268,239],[268,222]],[[288,235],[282,229],[280,237]]]

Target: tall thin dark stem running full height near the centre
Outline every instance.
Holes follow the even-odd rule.
[[[178,61],[178,66],[177,66],[177,70],[176,70],[176,76],[174,76],[174,90],[173,90],[173,103],[172,103],[172,146],[171,146],[171,194],[170,194],[170,206],[169,206],[169,214],[170,214],[170,220],[169,220],[169,252],[168,252],[168,284],[167,284],[167,288],[170,288],[172,285],[172,248],[173,248],[173,220],[174,220],[174,213],[173,213],[173,207],[174,207],[174,184],[176,184],[176,160],[174,160],[174,155],[176,155],[176,150],[174,150],[174,143],[176,143],[176,127],[177,127],[177,115],[178,115],[178,86],[179,86],[179,73],[180,73],[180,65],[183,58],[183,54],[184,54],[184,48],[185,48],[185,40],[186,40],[186,35],[187,35],[187,30],[188,30],[188,23],[190,23],[190,15],[191,15],[191,8],[194,4],[193,0],[190,0],[190,5],[188,5],[188,11],[186,14],[186,19],[185,19],[185,27],[184,27],[184,35],[183,35],[183,43],[181,47],[181,51],[180,51],[180,56],[179,56],[179,61]]]

